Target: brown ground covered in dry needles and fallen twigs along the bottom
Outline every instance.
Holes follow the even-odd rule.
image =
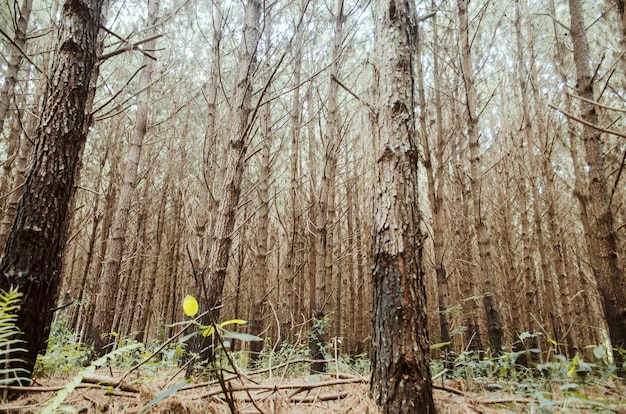
[[[181,378],[127,378],[123,387],[106,385],[115,377],[100,375],[86,378],[63,401],[66,412],[75,413],[212,413],[228,414],[229,404],[219,384],[209,382],[183,383]],[[49,378],[19,398],[0,406],[0,413],[38,413],[71,378]],[[100,382],[100,385],[85,383]],[[105,385],[102,385],[105,384]],[[369,397],[367,378],[350,374],[306,376],[297,379],[237,378],[227,381],[234,398],[236,412],[241,414],[323,414],[364,413],[380,411]],[[151,407],[145,406],[165,390],[178,385],[175,393]],[[435,404],[439,414],[510,414],[540,412],[536,399],[520,397],[512,392],[469,392],[459,381],[436,382]],[[626,387],[611,386],[603,391],[607,398],[622,400]],[[621,395],[620,395],[621,394]],[[141,409],[144,411],[140,411]],[[626,405],[615,410],[595,410],[576,403],[557,404],[542,412],[554,413],[618,413],[626,414]]]

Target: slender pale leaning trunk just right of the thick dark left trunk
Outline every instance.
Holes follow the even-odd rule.
[[[148,2],[148,37],[155,34],[156,19],[159,11],[160,0],[149,0]],[[155,40],[146,43],[147,50],[154,50]],[[102,278],[99,280],[98,296],[96,299],[96,309],[89,330],[87,342],[94,345],[94,354],[101,355],[110,340],[108,334],[113,326],[115,314],[115,304],[117,292],[119,290],[120,267],[124,243],[126,241],[126,230],[128,229],[128,217],[130,204],[137,185],[137,172],[141,149],[148,126],[148,112],[150,110],[150,85],[152,83],[152,72],[154,71],[154,57],[144,53],[143,69],[139,78],[139,93],[137,94],[137,117],[130,141],[130,151],[124,170],[123,184],[120,190],[120,197],[113,218],[113,226],[109,241],[106,267]]]

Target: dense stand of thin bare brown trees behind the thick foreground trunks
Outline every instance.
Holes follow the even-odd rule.
[[[570,356],[588,344],[608,351],[611,339],[624,347],[624,4],[578,4],[582,75],[567,2],[418,2],[423,265],[430,342],[444,349],[499,350],[523,332]],[[60,16],[58,2],[6,5],[2,245]],[[63,253],[58,306],[69,306],[57,314],[86,341],[101,326],[162,341],[191,293],[253,334],[294,342],[321,316],[342,352],[369,351],[369,2],[263,3],[253,44],[239,2],[110,7]],[[234,135],[247,152],[233,188]],[[234,222],[220,238],[224,200]],[[227,262],[211,262],[224,251]],[[217,284],[203,287],[205,277]]]

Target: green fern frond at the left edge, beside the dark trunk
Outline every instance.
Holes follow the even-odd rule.
[[[19,338],[21,332],[16,325],[21,300],[22,293],[16,288],[0,290],[0,385],[30,381],[29,372],[15,366],[24,363],[18,355],[28,352],[21,347],[26,341]]]

